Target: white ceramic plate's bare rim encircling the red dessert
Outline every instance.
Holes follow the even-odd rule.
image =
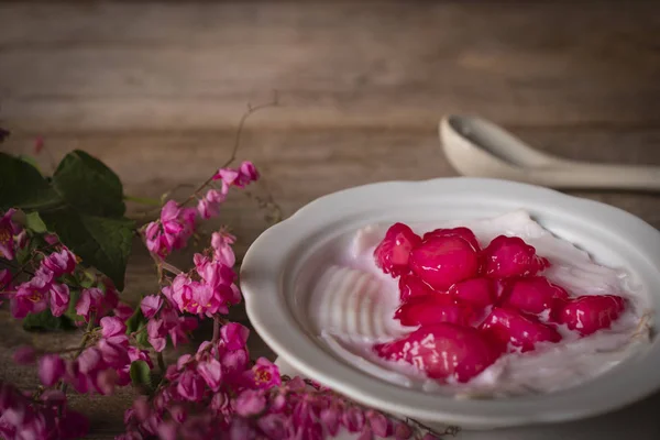
[[[336,359],[311,331],[306,293],[295,288],[306,260],[334,238],[374,222],[493,217],[525,209],[556,235],[635,282],[660,286],[660,233],[610,206],[550,189],[480,178],[366,185],[322,197],[268,229],[250,248],[241,287],[264,341],[302,374],[358,402],[429,422],[492,428],[603,414],[660,388],[660,344],[580,386],[498,400],[457,400],[398,387]],[[660,318],[660,289],[651,298]]]

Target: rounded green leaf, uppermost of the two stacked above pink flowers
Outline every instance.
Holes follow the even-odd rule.
[[[106,164],[80,150],[67,154],[53,175],[57,193],[77,210],[100,217],[125,211],[121,180]]]

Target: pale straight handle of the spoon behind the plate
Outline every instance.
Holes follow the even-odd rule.
[[[551,173],[544,173],[546,169],[539,169],[537,177],[544,175],[544,180],[551,180],[547,185],[556,188],[660,191],[660,166],[562,161],[552,166]],[[535,170],[529,172],[534,176]]]

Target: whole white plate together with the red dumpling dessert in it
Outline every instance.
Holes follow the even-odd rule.
[[[635,216],[464,177],[321,197],[241,265],[250,320],[293,370],[463,429],[575,420],[660,389],[657,286],[660,233]]]

